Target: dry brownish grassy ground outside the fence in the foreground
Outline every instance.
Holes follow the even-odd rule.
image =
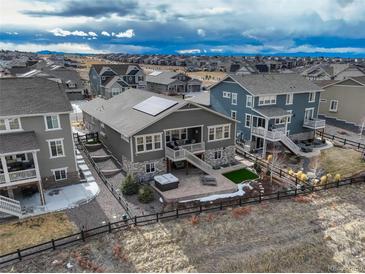
[[[3,271],[364,272],[364,197],[352,185],[130,228]]]

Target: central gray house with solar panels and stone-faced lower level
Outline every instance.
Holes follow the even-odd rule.
[[[236,122],[193,102],[129,89],[81,108],[85,126],[139,178],[171,170],[173,163],[205,168],[234,161]]]

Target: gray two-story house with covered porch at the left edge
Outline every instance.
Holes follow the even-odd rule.
[[[0,195],[79,182],[61,85],[44,78],[0,79]]]

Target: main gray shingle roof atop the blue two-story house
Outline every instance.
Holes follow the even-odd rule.
[[[254,95],[301,93],[322,90],[312,81],[295,73],[230,74],[229,77],[240,83]]]

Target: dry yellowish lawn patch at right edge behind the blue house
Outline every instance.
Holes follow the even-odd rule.
[[[315,166],[325,173],[339,173],[343,177],[365,171],[365,161],[361,159],[361,153],[351,148],[333,147],[322,150],[321,155],[311,163],[311,167]]]

